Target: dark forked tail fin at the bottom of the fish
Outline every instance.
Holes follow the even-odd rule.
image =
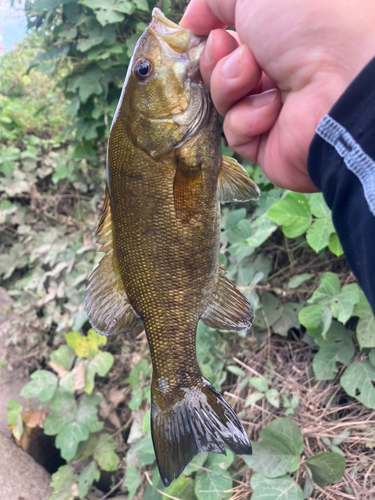
[[[152,440],[164,486],[169,486],[200,450],[225,455],[225,445],[237,455],[251,455],[249,438],[237,415],[207,380],[178,392],[181,399],[165,409],[155,402],[163,398],[161,393],[152,397]],[[164,397],[167,400],[168,395]]]

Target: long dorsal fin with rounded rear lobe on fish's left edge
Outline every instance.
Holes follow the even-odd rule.
[[[100,219],[96,236],[102,244],[100,252],[107,255],[89,277],[86,288],[86,311],[89,321],[98,333],[115,335],[133,328],[138,316],[129,303],[121,275],[116,268],[113,255],[111,205],[106,189],[103,214]]]

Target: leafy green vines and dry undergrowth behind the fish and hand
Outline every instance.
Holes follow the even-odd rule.
[[[7,342],[37,352],[30,365],[37,370],[21,393],[27,404],[8,404],[13,435],[21,445],[31,428],[55,436],[66,464],[53,475],[53,500],[98,498],[94,483],[129,500],[294,500],[332,498],[320,495],[339,482],[335,497],[354,498],[345,481],[367,469],[342,449],[353,442],[353,428],[325,433],[315,426],[313,446],[303,426],[315,401],[309,394],[317,394],[320,421],[332,414],[336,428],[349,418],[340,406],[363,422],[375,409],[375,319],[321,194],[276,188],[258,166],[242,162],[261,187],[260,200],[222,211],[220,262],[250,300],[255,321],[239,334],[199,325],[197,351],[203,375],[241,411],[253,457],[201,453],[164,490],[150,437],[144,334],[107,345],[89,329],[84,295],[100,259],[93,235],[105,139],[155,4],[28,1],[30,36],[0,59],[0,275],[17,315]],[[185,6],[157,4],[176,21]],[[224,139],[223,149],[233,155]],[[306,368],[298,388],[282,371],[283,349],[291,346],[289,372]],[[360,450],[373,460],[366,425]]]

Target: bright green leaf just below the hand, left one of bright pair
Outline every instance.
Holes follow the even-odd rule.
[[[288,193],[268,210],[267,217],[282,224],[282,231],[288,238],[300,236],[311,225],[311,210],[301,193]]]

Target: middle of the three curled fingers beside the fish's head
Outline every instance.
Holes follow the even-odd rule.
[[[258,84],[262,72],[247,45],[240,45],[222,58],[212,71],[210,89],[218,112],[225,116],[229,108],[248,95]]]

